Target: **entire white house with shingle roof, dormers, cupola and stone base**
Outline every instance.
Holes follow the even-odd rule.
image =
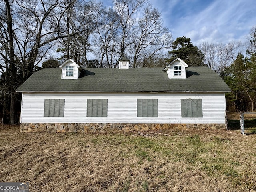
[[[163,68],[84,68],[73,60],[34,73],[22,92],[21,131],[224,128],[226,83],[180,58]]]

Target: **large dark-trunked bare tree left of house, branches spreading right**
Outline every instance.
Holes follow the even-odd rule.
[[[16,88],[33,73],[34,67],[52,48],[56,40],[67,38],[84,31],[85,22],[78,30],[66,34],[62,26],[65,14],[76,0],[4,0],[1,2],[0,21],[6,32],[1,30],[2,50],[0,56],[7,61],[7,77],[11,79],[10,124],[18,122]],[[15,10],[15,12],[13,11]],[[17,74],[21,74],[19,79]]]

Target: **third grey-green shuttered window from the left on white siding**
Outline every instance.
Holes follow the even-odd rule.
[[[158,100],[137,99],[137,117],[158,117]]]

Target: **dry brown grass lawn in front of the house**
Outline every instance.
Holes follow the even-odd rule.
[[[256,191],[256,134],[19,129],[0,126],[0,182],[29,182],[30,192]]]

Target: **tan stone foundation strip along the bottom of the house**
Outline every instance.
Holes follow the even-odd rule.
[[[90,132],[148,131],[166,129],[225,129],[225,124],[124,124],[124,123],[21,123],[20,132]]]

